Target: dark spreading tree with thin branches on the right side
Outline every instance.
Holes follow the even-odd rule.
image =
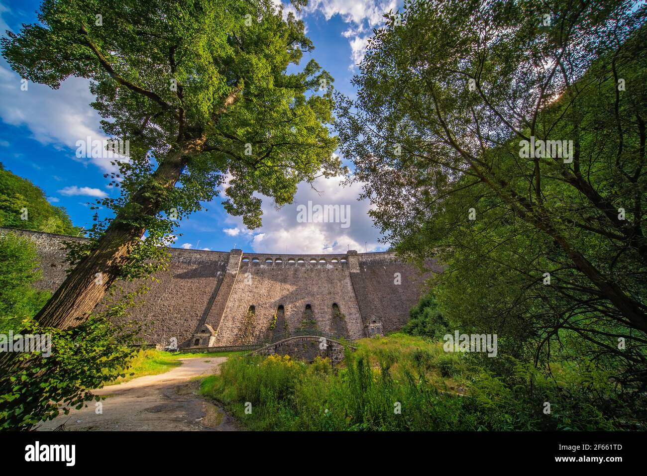
[[[642,382],[646,14],[617,0],[408,1],[336,114],[385,240],[446,265],[450,318],[535,339],[535,362],[567,330]]]

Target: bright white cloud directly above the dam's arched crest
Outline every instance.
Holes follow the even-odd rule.
[[[314,189],[302,183],[292,204],[280,210],[274,208],[270,199],[262,197],[263,226],[252,230],[252,250],[258,253],[322,254],[345,253],[349,249],[361,253],[386,248],[386,245],[378,243],[380,233],[367,215],[371,206],[369,201],[357,200],[360,184],[343,187],[340,185],[342,180],[343,177],[320,177],[314,181]],[[298,207],[307,206],[308,201],[313,206],[347,206],[347,228],[342,226],[342,222],[298,222]],[[250,233],[238,217],[229,217],[228,222],[235,223],[241,233]]]

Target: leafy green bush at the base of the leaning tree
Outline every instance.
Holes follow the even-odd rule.
[[[32,319],[21,325],[27,334],[49,334],[51,351],[20,352],[0,375],[0,429],[31,429],[60,411],[80,409],[100,400],[91,393],[104,382],[125,377],[137,353],[129,345],[134,330],[116,327],[105,316],[94,316],[69,330],[43,328]],[[19,365],[15,365],[15,364]]]

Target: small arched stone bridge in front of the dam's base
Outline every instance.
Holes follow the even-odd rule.
[[[292,336],[274,343],[265,345],[260,349],[249,352],[258,355],[289,355],[293,358],[313,362],[317,356],[329,358],[333,365],[344,360],[344,347],[355,351],[354,345],[342,343],[324,336]]]

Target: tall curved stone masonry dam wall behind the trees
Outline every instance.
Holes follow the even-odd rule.
[[[36,244],[43,277],[36,287],[54,292],[65,279],[63,242],[85,238],[1,228]],[[364,336],[364,326],[381,321],[385,331],[397,330],[408,319],[410,307],[424,292],[424,278],[417,268],[397,261],[393,253],[349,252],[336,255],[243,254],[241,250],[210,252],[168,248],[168,270],[156,275],[145,303],[133,310],[143,323],[142,339],[170,345],[176,338],[188,345],[203,324],[217,332],[215,345],[240,345],[265,340],[272,334],[300,327],[314,327],[338,334],[344,329],[351,339]],[[400,273],[400,285],[394,274]],[[136,283],[124,283],[133,290]],[[334,321],[333,304],[343,322]],[[309,304],[313,321],[303,320]],[[277,308],[285,309],[287,329],[270,329]],[[250,306],[252,321],[246,316]],[[283,327],[283,326],[281,326]]]

